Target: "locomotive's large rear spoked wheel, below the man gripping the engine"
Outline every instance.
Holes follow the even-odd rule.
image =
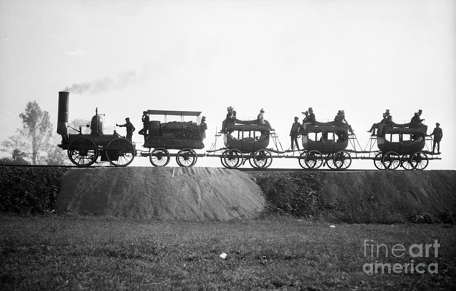
[[[125,167],[133,162],[136,151],[130,140],[118,137],[109,141],[106,147],[106,157],[111,165]]]

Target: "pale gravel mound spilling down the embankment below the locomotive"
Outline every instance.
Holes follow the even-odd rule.
[[[263,206],[248,175],[202,167],[71,169],[57,195],[60,213],[138,220],[226,221],[254,217]]]

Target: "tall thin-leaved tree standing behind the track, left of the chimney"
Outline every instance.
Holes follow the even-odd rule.
[[[40,163],[40,151],[48,144],[52,135],[52,124],[49,121],[49,112],[42,111],[36,101],[27,103],[25,113],[19,114],[22,118],[22,129],[19,132],[25,141],[25,148],[31,155],[32,165]]]

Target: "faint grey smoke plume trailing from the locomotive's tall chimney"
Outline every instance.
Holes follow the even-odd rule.
[[[77,94],[83,94],[87,92],[96,94],[113,89],[122,89],[136,81],[138,81],[136,72],[126,71],[119,73],[115,78],[106,77],[94,81],[72,84],[71,86],[66,86],[64,91]]]

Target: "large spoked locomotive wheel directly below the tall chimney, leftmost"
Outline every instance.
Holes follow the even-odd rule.
[[[92,140],[80,137],[71,141],[68,146],[68,158],[78,167],[88,167],[96,162],[98,148]]]

